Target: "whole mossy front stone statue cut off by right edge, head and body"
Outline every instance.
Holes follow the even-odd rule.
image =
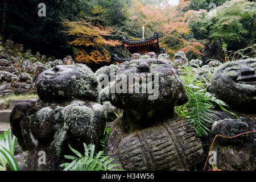
[[[256,60],[225,63],[217,68],[208,90],[226,102],[236,116],[213,110],[213,137],[217,134],[233,137],[256,128]],[[217,166],[222,170],[255,170],[256,135],[237,138],[217,138]]]

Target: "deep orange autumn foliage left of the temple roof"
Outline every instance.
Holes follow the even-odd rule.
[[[73,41],[69,44],[76,47],[75,60],[77,63],[102,63],[110,61],[108,47],[121,45],[118,40],[110,39],[113,34],[112,27],[103,27],[100,24],[94,26],[84,19],[76,22],[65,20],[68,35]]]

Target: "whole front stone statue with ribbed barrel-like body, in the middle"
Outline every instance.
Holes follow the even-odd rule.
[[[203,149],[191,123],[174,111],[188,101],[176,69],[156,59],[121,66],[115,84],[123,82],[127,93],[110,93],[110,102],[123,109],[123,116],[112,126],[107,155],[127,170],[195,169],[203,160]],[[142,92],[151,86],[157,93]],[[152,94],[157,97],[149,97]]]

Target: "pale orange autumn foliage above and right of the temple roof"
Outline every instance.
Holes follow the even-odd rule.
[[[136,22],[139,27],[144,25],[147,31],[159,31],[162,35],[160,46],[167,53],[173,56],[177,51],[184,51],[202,55],[200,50],[204,45],[196,39],[189,39],[191,30],[187,16],[184,16],[189,1],[181,0],[177,6],[169,5],[166,1],[159,1],[156,5],[142,5],[139,0],[133,0],[133,3],[130,9],[131,22]]]

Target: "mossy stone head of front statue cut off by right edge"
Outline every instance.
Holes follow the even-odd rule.
[[[232,61],[218,67],[208,90],[230,107],[255,113],[256,60]]]

